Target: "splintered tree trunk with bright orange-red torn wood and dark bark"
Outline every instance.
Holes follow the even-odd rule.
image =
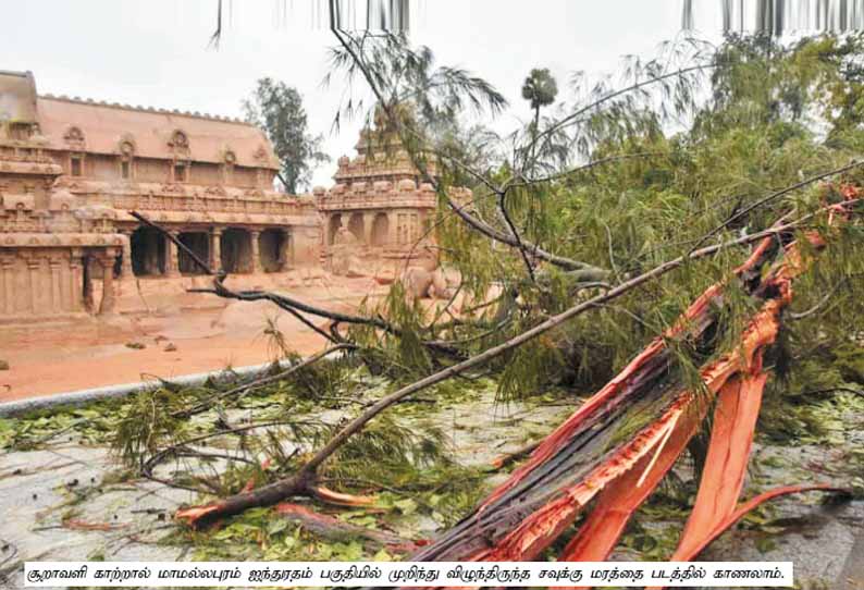
[[[843,207],[831,207],[829,220]],[[824,246],[810,234],[811,244]],[[597,504],[561,558],[608,556],[633,512],[649,497],[695,434],[719,396],[709,459],[698,505],[674,558],[692,558],[760,502],[782,493],[834,490],[830,485],[781,489],[737,508],[753,430],[767,380],[762,358],[776,341],[791,283],[806,270],[797,243],[763,278],[774,238],[762,242],[738,269],[745,288],[763,302],[740,346],[705,366],[700,391],[675,383],[665,340],[654,341],[625,370],[547,437],[529,460],[467,518],[412,556],[414,561],[530,561],[548,548],[594,499]],[[777,245],[782,245],[777,236]],[[712,322],[708,304],[721,303],[723,285],[708,288],[671,335],[698,337]],[[657,410],[657,408],[661,408]],[[651,413],[635,433],[615,437],[618,425]]]

